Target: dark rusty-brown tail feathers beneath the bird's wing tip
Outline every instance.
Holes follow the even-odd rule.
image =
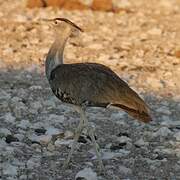
[[[125,112],[127,112],[130,116],[138,119],[139,121],[142,121],[144,123],[148,123],[152,121],[151,116],[148,113],[148,110],[143,108],[143,110],[136,110],[136,109],[131,109],[127,106],[121,105],[121,104],[112,104],[112,106],[119,107],[123,109]]]

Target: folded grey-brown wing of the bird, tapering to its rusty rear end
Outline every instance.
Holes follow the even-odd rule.
[[[77,104],[112,105],[131,116],[151,120],[145,102],[110,68],[96,63],[63,64],[51,73],[52,89],[59,88]]]

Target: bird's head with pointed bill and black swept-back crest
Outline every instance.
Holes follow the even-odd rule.
[[[57,35],[64,34],[67,36],[76,36],[79,31],[83,32],[80,27],[66,18],[46,19],[46,21],[51,23]]]

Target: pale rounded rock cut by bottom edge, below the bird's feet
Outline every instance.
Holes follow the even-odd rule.
[[[76,174],[75,179],[97,180],[97,174],[91,168],[84,168]]]

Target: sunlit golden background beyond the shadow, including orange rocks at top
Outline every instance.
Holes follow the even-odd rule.
[[[179,0],[1,0],[1,69],[42,67],[53,35],[38,21],[54,17],[85,30],[66,63],[102,63],[142,91],[180,94]]]

